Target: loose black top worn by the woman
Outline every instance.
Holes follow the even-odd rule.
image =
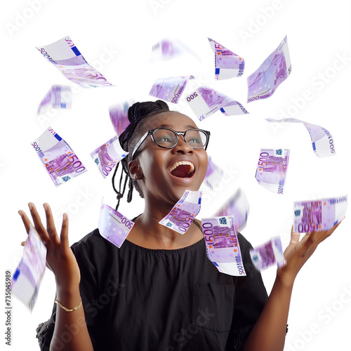
[[[94,350],[241,350],[267,292],[251,244],[238,239],[246,277],[218,272],[204,239],[176,250],[126,240],[119,249],[96,229],[73,244]],[[50,345],[55,310],[37,329],[41,350]]]

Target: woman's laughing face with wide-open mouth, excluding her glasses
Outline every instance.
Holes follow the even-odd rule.
[[[174,131],[197,128],[194,121],[178,112],[161,112],[149,117],[143,124],[139,137],[149,129],[166,127]],[[131,167],[136,162],[138,171]],[[141,173],[138,178],[145,199],[156,199],[175,204],[185,190],[199,190],[207,171],[207,153],[204,149],[194,150],[179,135],[173,149],[157,146],[150,135],[138,149],[138,156],[131,161],[131,173]],[[193,171],[192,171],[193,170]]]

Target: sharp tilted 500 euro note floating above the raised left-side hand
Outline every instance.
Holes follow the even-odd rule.
[[[50,126],[31,145],[56,186],[86,171],[71,147]]]

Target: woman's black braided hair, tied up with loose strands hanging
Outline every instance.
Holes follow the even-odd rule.
[[[121,135],[119,135],[119,143],[121,144],[122,149],[126,152],[129,152],[129,154],[121,160],[122,169],[121,177],[119,178],[119,190],[117,190],[114,185],[114,179],[116,178],[119,163],[116,165],[112,176],[112,187],[114,189],[114,192],[117,193],[116,211],[119,207],[119,201],[122,197],[124,197],[124,193],[126,192],[127,183],[127,202],[131,202],[132,200],[134,187],[140,194],[140,197],[144,197],[143,192],[138,184],[138,181],[133,180],[129,174],[128,163],[129,161],[131,161],[132,152],[134,150],[135,145],[138,143],[138,132],[141,130],[141,128],[143,128],[143,124],[146,121],[147,117],[152,117],[155,114],[159,114],[161,112],[169,112],[168,105],[162,100],[135,102],[135,104],[131,105],[131,107],[129,107],[128,109],[128,121],[130,122],[130,124],[128,124],[126,129],[121,133]]]

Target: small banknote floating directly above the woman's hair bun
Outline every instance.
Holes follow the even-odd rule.
[[[178,104],[178,100],[180,99],[185,86],[187,86],[187,81],[193,78],[193,76],[182,76],[156,79],[149,95]]]

